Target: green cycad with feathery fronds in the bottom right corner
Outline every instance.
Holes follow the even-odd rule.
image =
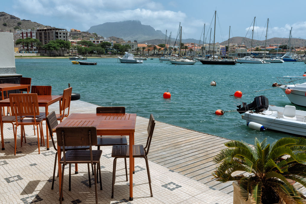
[[[243,199],[251,195],[256,204],[306,203],[297,190],[306,187],[305,138],[284,137],[271,145],[255,138],[253,148],[242,141],[225,146],[214,158],[219,166],[213,176],[221,182],[238,181]]]

